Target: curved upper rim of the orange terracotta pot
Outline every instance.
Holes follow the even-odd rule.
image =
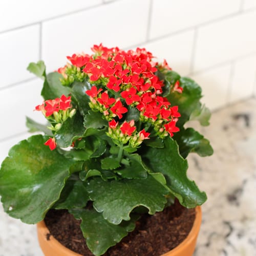
[[[196,211],[196,216],[195,216],[195,221],[194,224],[190,230],[190,232],[188,233],[188,236],[175,248],[173,248],[172,250],[162,254],[161,256],[171,256],[171,255],[176,255],[177,252],[179,252],[180,250],[183,250],[184,247],[189,246],[190,243],[192,243],[195,239],[197,239],[199,230],[200,230],[200,226],[201,226],[201,222],[202,222],[202,209],[200,206],[197,206],[195,208]],[[44,236],[44,240],[46,240],[45,242],[51,242],[52,243],[52,247],[58,247],[60,252],[63,252],[63,255],[66,255],[65,253],[69,253],[70,255],[73,256],[82,256],[79,253],[76,253],[72,250],[70,250],[69,248],[65,247],[64,245],[62,245],[56,238],[54,238],[52,235],[50,236],[49,240],[47,240],[47,235],[50,233],[48,227],[45,224],[45,221],[42,220],[40,222],[38,222],[37,224],[37,229],[41,230],[41,233]]]

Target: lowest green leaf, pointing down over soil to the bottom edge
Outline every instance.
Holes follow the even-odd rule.
[[[111,246],[119,243],[123,237],[135,228],[136,215],[130,221],[122,221],[120,225],[114,225],[106,221],[102,214],[94,209],[69,210],[76,219],[82,220],[81,230],[88,248],[94,255],[99,256]]]

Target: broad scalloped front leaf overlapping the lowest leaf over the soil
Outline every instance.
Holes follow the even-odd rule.
[[[150,175],[146,179],[103,181],[95,177],[88,182],[88,193],[98,212],[113,224],[130,220],[131,211],[139,205],[148,208],[151,215],[164,208],[168,194]]]

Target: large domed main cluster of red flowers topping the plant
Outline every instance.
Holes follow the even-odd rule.
[[[94,46],[92,51],[92,55],[73,54],[67,57],[72,65],[68,63],[58,70],[63,76],[63,85],[67,86],[74,80],[82,81],[88,77],[90,83],[94,84],[91,90],[86,91],[90,96],[90,108],[102,113],[108,121],[120,123],[123,114],[131,108],[136,108],[139,111],[139,120],[145,126],[141,131],[154,131],[154,135],[160,138],[173,136],[179,131],[176,126],[180,117],[178,106],[171,106],[170,102],[161,96],[164,82],[156,74],[158,68],[163,72],[170,70],[165,60],[162,64],[154,62],[152,53],[140,48],[125,52],[117,47],[106,48],[100,44]],[[182,88],[177,82],[173,90],[182,93]],[[135,120],[132,121],[134,123]],[[145,123],[150,123],[152,127]],[[126,124],[127,122],[123,122],[122,125]],[[119,136],[124,134],[121,127],[115,127],[114,132],[110,126],[108,135],[113,140],[118,137],[121,143],[127,143],[131,139],[130,144],[137,147],[141,142],[134,142],[134,136],[126,134],[125,139]],[[137,130],[134,124],[132,127],[134,131]],[[141,131],[136,131],[139,141],[142,137],[148,137],[139,136]]]

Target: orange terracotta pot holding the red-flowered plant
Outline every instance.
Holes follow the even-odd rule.
[[[170,250],[169,252],[166,252],[161,256],[192,256],[196,248],[196,242],[200,230],[201,221],[201,207],[197,206],[196,219],[187,238],[173,250]],[[80,254],[71,251],[70,249],[63,246],[54,237],[50,236],[48,238],[49,233],[50,231],[47,228],[44,221],[37,223],[38,241],[42,249],[42,252],[44,252],[45,256],[81,256]]]

